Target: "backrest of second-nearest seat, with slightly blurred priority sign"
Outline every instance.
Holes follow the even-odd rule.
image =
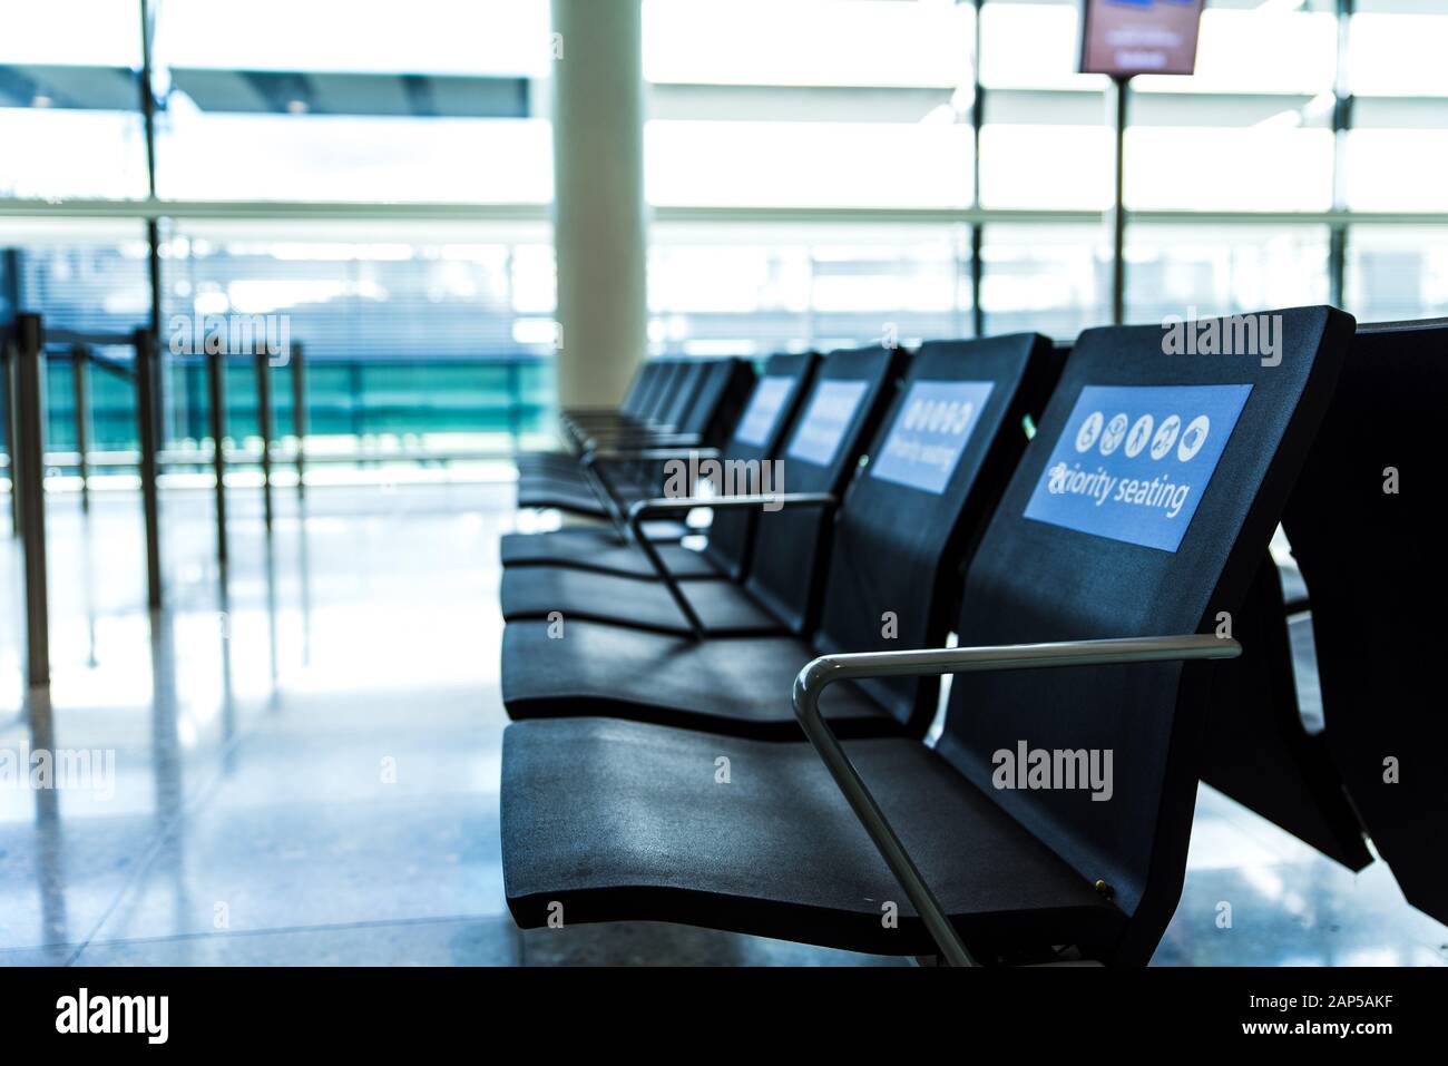
[[[824,653],[940,646],[959,574],[1025,452],[1058,364],[1038,333],[937,340],[911,359],[834,526],[814,643]],[[856,682],[922,734],[938,678]]]

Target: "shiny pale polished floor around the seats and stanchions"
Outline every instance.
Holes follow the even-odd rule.
[[[210,494],[172,488],[152,623],[135,492],[97,491],[90,516],[55,492],[54,681],[29,700],[0,539],[0,965],[899,965],[662,924],[514,928],[511,500],[501,481],[278,490],[268,537],[239,488],[223,579]],[[26,779],[42,749],[70,753],[64,786]],[[1352,875],[1203,788],[1156,962],[1448,965],[1448,928],[1381,863]]]

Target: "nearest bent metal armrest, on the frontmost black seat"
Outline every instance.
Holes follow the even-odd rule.
[[[1235,659],[1242,646],[1231,637],[1190,633],[1170,637],[1121,640],[1069,640],[1051,645],[1005,645],[1001,647],[940,647],[917,652],[866,652],[825,655],[795,678],[795,717],[824,760],[834,784],[844,794],[864,830],[875,842],[895,879],[909,897],[915,912],[935,939],[951,966],[976,966],[935,894],[921,876],[905,844],[880,811],[870,789],[844,753],[834,731],[820,714],[820,695],[846,678],[938,676],[975,671],[1041,669],[1045,666],[1106,666],[1112,663],[1179,662],[1186,659]]]

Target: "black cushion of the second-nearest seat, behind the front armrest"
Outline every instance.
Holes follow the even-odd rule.
[[[502,630],[502,702],[513,718],[608,714],[736,736],[804,740],[791,692],[815,658],[795,637],[715,639],[589,621],[511,621]],[[840,736],[896,736],[899,723],[854,685],[820,704]]]

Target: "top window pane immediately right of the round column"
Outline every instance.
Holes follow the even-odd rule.
[[[972,38],[953,4],[650,0],[650,203],[969,204]]]

